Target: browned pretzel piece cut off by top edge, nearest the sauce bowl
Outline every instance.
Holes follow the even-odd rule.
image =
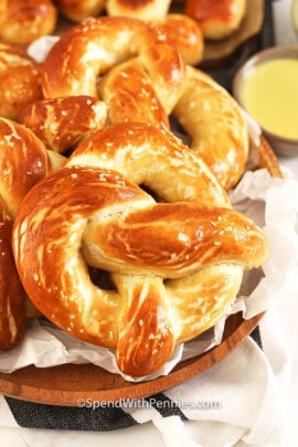
[[[245,15],[246,0],[188,0],[185,13],[198,21],[205,39],[221,40],[235,32]]]

